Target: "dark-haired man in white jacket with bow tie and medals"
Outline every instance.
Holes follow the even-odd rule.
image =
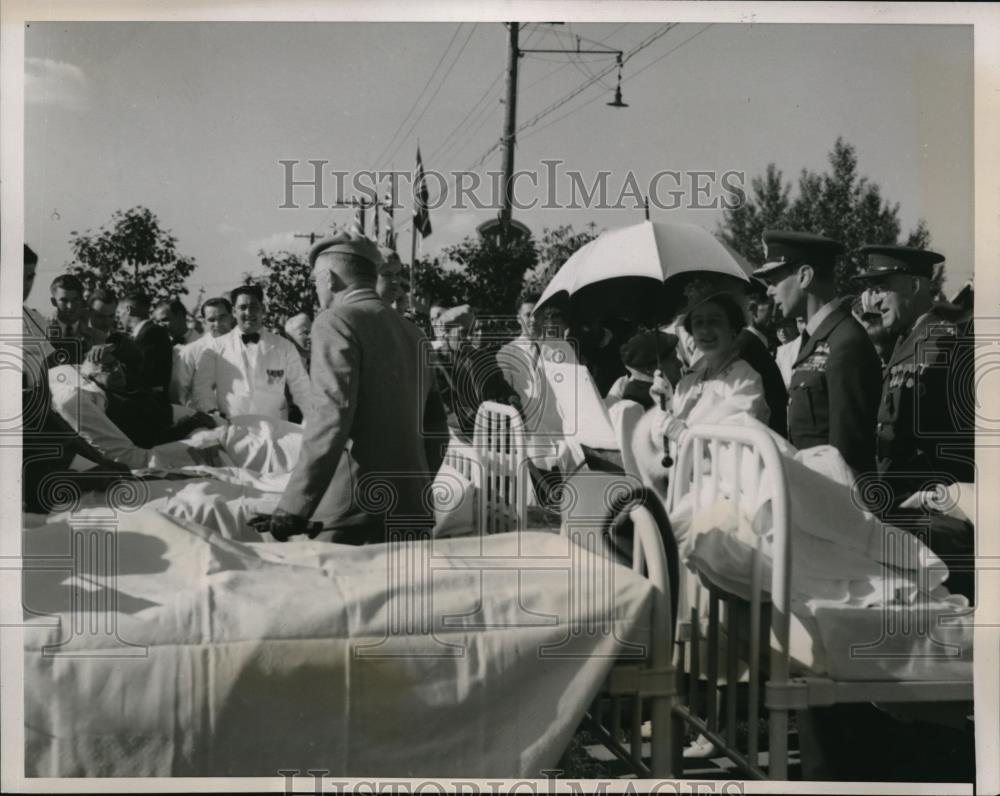
[[[191,400],[202,412],[229,418],[263,415],[288,419],[285,387],[309,417],[312,390],[299,352],[290,340],[266,331],[264,293],[259,285],[240,285],[229,294],[236,326],[215,338],[194,373]]]

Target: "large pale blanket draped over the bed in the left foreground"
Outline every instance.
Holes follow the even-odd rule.
[[[24,574],[28,776],[540,777],[648,640],[648,582],[560,536],[248,545],[116,522],[77,512],[96,545]],[[30,528],[24,555],[51,565],[71,535]]]

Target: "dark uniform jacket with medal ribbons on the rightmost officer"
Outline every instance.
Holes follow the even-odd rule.
[[[975,338],[931,310],[893,350],[878,409],[878,469],[896,498],[974,480]]]

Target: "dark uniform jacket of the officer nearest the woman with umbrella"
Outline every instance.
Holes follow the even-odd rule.
[[[841,305],[799,349],[788,401],[796,448],[833,445],[854,472],[875,470],[882,363],[864,327]]]

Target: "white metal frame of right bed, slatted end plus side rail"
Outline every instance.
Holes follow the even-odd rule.
[[[721,468],[711,468],[710,473],[705,473],[701,463],[706,452],[712,460],[718,461],[723,446],[732,446],[734,461],[737,462],[737,466],[733,468],[731,485],[734,495],[754,495],[762,483],[767,483],[770,489],[773,516],[772,578],[769,584],[763,582],[763,536],[760,536],[753,551],[749,606],[744,600],[701,581],[699,594],[708,600],[708,629],[705,635],[707,671],[702,671],[701,621],[698,607],[694,606],[690,620],[680,623],[676,635],[678,698],[673,703],[673,720],[668,729],[672,735],[672,763],[681,760],[679,750],[683,743],[684,725],[690,725],[714,742],[726,757],[752,778],[783,780],[788,777],[788,727],[789,712],[792,710],[851,702],[971,702],[972,682],[865,682],[793,676],[789,649],[791,507],[783,461],[774,440],[765,430],[752,427],[703,425],[689,429],[676,458],[670,480],[668,506],[672,508],[680,498],[690,493],[693,510],[696,510],[697,506],[703,505],[701,501],[704,495],[719,494]],[[742,467],[739,462],[747,455],[759,466],[752,467],[751,482],[743,484],[740,483]],[[720,607],[725,608],[725,620],[730,623],[724,655],[727,685],[737,681],[737,666],[741,660],[749,667],[747,719],[750,732],[746,748],[737,744],[734,695],[727,700],[725,731],[721,731],[719,726],[719,640],[723,622]],[[747,615],[748,627],[742,628],[745,632],[734,632],[733,623],[746,622]],[[765,652],[768,652],[762,647],[766,643],[763,640],[765,632],[770,637],[770,665],[761,700],[761,664]],[[743,638],[747,639],[746,643],[741,643]],[[686,646],[689,646],[689,650],[685,649]],[[688,660],[687,665],[684,663],[685,659]],[[707,679],[707,691],[706,698],[701,700],[698,684],[703,675]],[[769,760],[766,770],[759,764],[758,727],[762,701],[769,723]],[[681,775],[683,772],[671,768],[669,773]]]

